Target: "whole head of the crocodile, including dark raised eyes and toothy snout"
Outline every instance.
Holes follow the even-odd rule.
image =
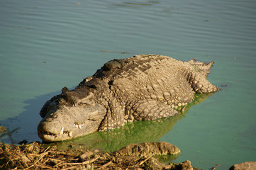
[[[106,108],[97,103],[94,94],[87,88],[69,91],[54,96],[45,103],[40,115],[38,135],[46,142],[69,140],[98,130]]]

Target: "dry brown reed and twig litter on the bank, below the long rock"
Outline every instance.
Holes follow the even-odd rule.
[[[0,143],[0,169],[193,169],[189,161],[165,165],[152,156],[118,156],[98,149],[61,151],[40,142],[21,146]]]

